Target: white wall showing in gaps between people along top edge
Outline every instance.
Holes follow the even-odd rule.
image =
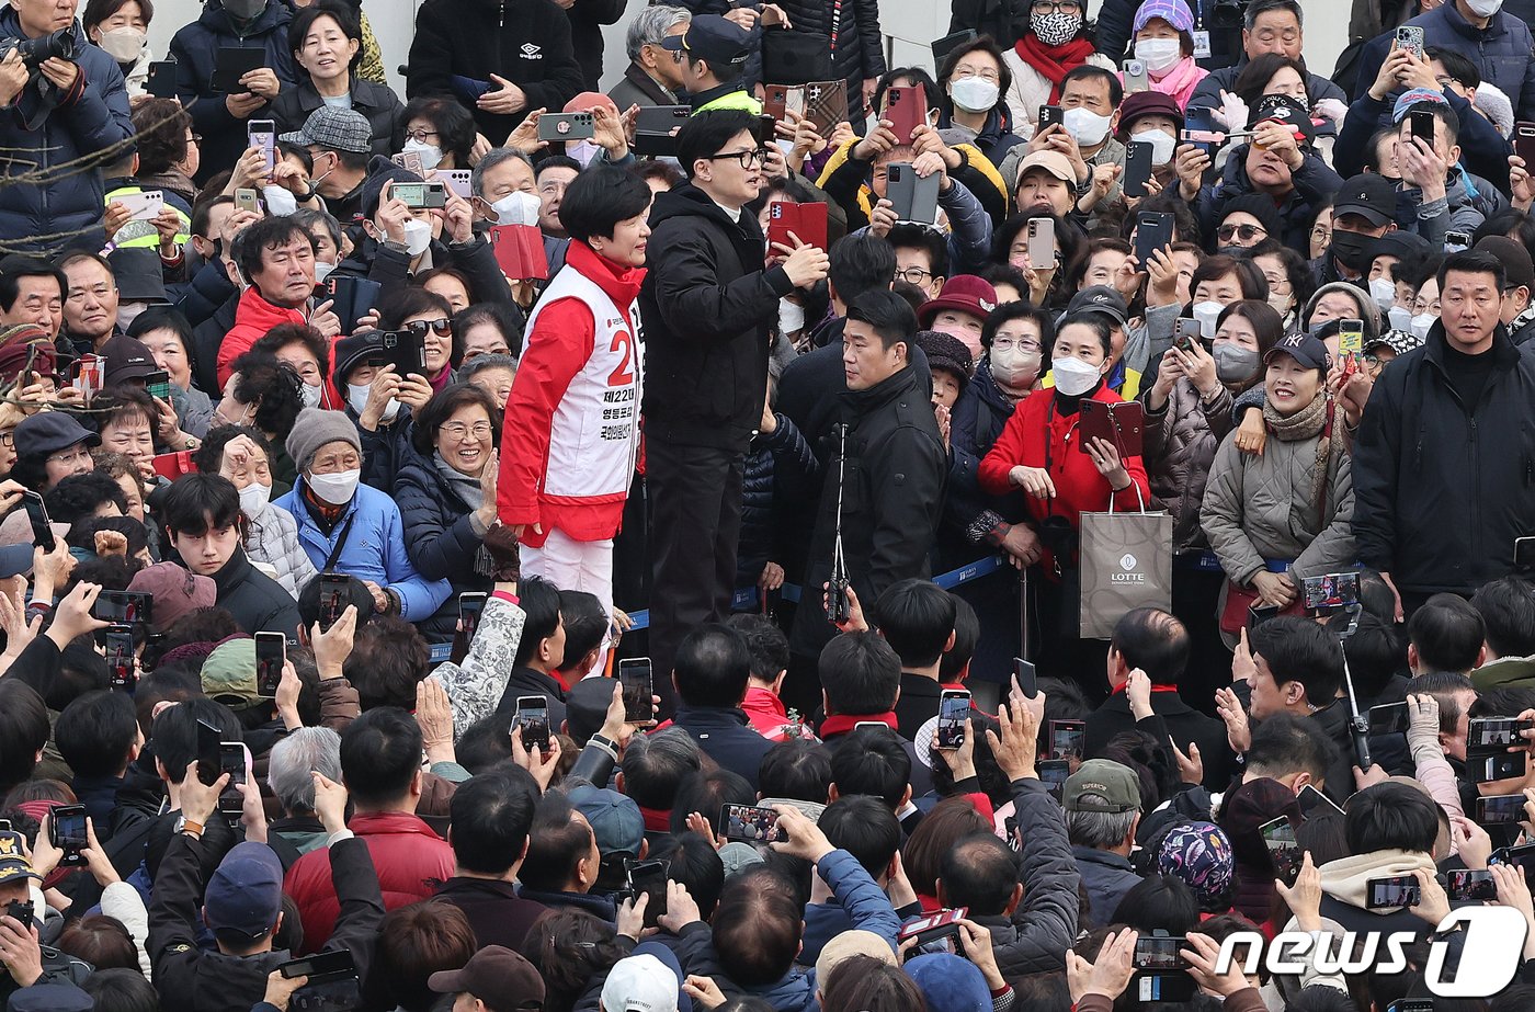
[[[510,0],[516,5],[517,0]],[[827,0],[829,2],[829,0]],[[1342,0],[1300,0],[1306,11],[1306,63],[1315,74],[1328,75],[1348,41],[1348,15]],[[81,5],[83,6],[83,5]],[[405,61],[410,38],[416,26],[419,0],[365,0],[364,11],[373,25],[379,46],[384,49],[384,66],[390,72],[390,84],[405,97],[405,83],[394,68]],[[643,0],[629,0],[629,8],[643,6]],[[196,18],[201,3],[196,0],[160,0],[155,5],[155,23],[149,38],[157,57],[164,57],[170,37],[187,21]],[[927,43],[941,38],[949,29],[949,6],[941,0],[880,0],[880,21],[886,31],[886,55],[892,66],[930,66],[932,54]],[[625,25],[609,25],[605,31],[606,72],[602,84],[606,91],[617,81],[628,63],[623,54]]]

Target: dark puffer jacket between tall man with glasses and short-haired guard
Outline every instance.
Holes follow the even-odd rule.
[[[778,522],[783,502],[798,502],[821,473],[810,444],[784,415],[778,428],[758,432],[746,450],[741,479],[741,542],[735,553],[735,585],[751,587],[769,562],[783,562]]]

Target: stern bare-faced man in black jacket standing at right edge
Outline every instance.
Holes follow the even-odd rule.
[[[1500,322],[1507,284],[1486,250],[1444,258],[1443,315],[1380,375],[1354,438],[1354,539],[1412,611],[1514,571],[1535,534],[1535,352]]]

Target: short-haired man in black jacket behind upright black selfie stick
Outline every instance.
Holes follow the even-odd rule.
[[[832,436],[844,459],[832,458],[826,465],[804,588],[830,579],[838,536],[860,600],[878,600],[896,580],[929,574],[949,455],[933,405],[907,358],[915,338],[916,313],[893,292],[864,292],[847,310],[847,393],[841,395],[846,435]],[[817,654],[834,633],[814,594],[810,602],[795,614],[791,643],[798,654]]]

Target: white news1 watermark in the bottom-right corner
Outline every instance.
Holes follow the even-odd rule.
[[[1452,980],[1446,980],[1449,941],[1429,943],[1429,960],[1423,967],[1423,983],[1440,998],[1487,998],[1514,980],[1524,961],[1524,938],[1529,926],[1524,914],[1512,906],[1466,906],[1451,911],[1438,923],[1435,935],[1463,934],[1460,964]],[[1236,963],[1236,951],[1245,948],[1243,974],[1256,974],[1259,963],[1274,975],[1300,975],[1315,969],[1331,974],[1400,974],[1408,969],[1406,946],[1417,940],[1411,931],[1345,931],[1342,941],[1326,932],[1311,935],[1286,931],[1273,941],[1256,931],[1228,935],[1216,957],[1216,974],[1226,974]]]

